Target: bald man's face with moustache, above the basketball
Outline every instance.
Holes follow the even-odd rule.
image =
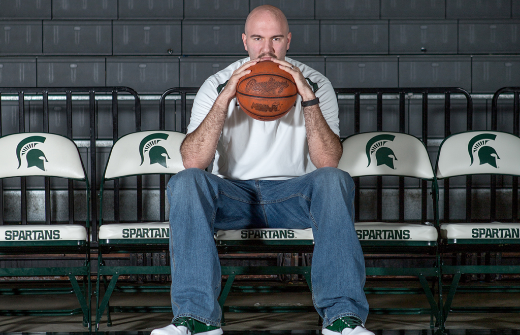
[[[289,50],[291,33],[284,22],[268,11],[259,12],[245,25],[244,48],[251,59],[284,59]]]

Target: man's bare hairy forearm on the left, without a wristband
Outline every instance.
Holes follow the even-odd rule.
[[[226,120],[230,99],[220,95],[210,112],[193,132],[186,135],[180,146],[185,168],[205,169],[215,157],[218,139]]]

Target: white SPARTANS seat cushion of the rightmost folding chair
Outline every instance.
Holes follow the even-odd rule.
[[[444,223],[440,225],[440,236],[448,239],[520,238],[520,223]]]

